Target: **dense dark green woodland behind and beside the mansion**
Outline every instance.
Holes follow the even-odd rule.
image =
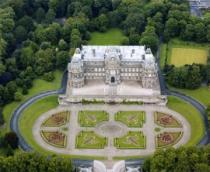
[[[174,37],[210,41],[210,16],[191,16],[187,0],[6,0],[0,4],[0,106],[19,100],[36,77],[52,80],[53,71],[65,68],[91,32],[111,27],[123,30],[122,44],[145,44],[154,53],[160,37],[166,42]],[[183,77],[177,82],[173,72],[169,82],[196,88],[200,75],[210,82],[209,64],[205,69],[203,76],[200,67],[173,68],[177,75],[189,76],[189,84],[183,84]],[[18,92],[9,89],[11,81]]]

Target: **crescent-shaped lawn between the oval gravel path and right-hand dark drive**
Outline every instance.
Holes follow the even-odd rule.
[[[168,97],[167,106],[182,114],[191,125],[191,137],[186,146],[198,144],[205,132],[204,121],[199,112],[189,103],[173,96]]]

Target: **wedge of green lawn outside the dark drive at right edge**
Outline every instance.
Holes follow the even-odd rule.
[[[184,93],[202,103],[205,106],[210,105],[210,87],[202,86],[195,90],[188,90],[188,89],[179,89],[170,87],[171,90],[179,91]]]

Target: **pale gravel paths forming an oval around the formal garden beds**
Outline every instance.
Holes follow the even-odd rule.
[[[61,111],[70,111],[70,120],[69,123],[66,124],[68,127],[68,135],[67,135],[67,146],[66,148],[58,148],[49,145],[46,143],[40,134],[40,130],[46,131],[57,131],[56,127],[42,127],[43,121],[48,119],[52,114]],[[78,123],[78,112],[85,110],[104,110],[109,113],[109,122],[102,122],[96,127],[81,127]],[[142,128],[128,128],[126,125],[115,122],[114,115],[119,111],[144,111],[146,120]],[[182,127],[181,128],[164,128],[157,126],[154,122],[154,112],[159,111],[173,116],[177,119]],[[72,104],[68,107],[59,106],[56,109],[53,109],[42,116],[40,116],[36,123],[33,126],[33,136],[37,143],[42,146],[44,149],[61,154],[71,154],[71,155],[84,155],[84,156],[100,156],[107,157],[108,160],[112,160],[113,157],[125,157],[125,156],[147,156],[154,153],[156,149],[155,144],[155,136],[157,132],[155,132],[156,128],[161,128],[162,132],[183,132],[181,139],[173,145],[173,147],[177,148],[183,144],[186,144],[191,136],[190,124],[188,121],[177,112],[174,112],[168,109],[165,106],[152,106],[152,105],[81,105],[81,104]],[[81,131],[95,131],[97,134],[101,136],[108,137],[108,145],[104,149],[77,149],[75,147],[75,138]],[[113,132],[112,132],[113,131]],[[114,147],[114,137],[116,135],[122,136],[126,134],[128,131],[142,131],[146,136],[146,147],[145,149],[117,149]]]

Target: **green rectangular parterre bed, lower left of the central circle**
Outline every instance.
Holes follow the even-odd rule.
[[[76,148],[79,149],[104,149],[107,138],[98,136],[94,131],[81,131],[76,137]]]

